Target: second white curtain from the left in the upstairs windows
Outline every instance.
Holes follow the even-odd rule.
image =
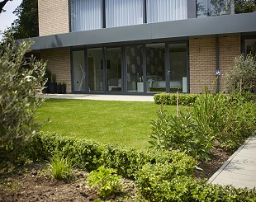
[[[106,27],[143,23],[143,0],[106,0]]]

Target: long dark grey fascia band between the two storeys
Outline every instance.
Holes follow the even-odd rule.
[[[115,43],[145,43],[155,40],[187,39],[191,36],[256,32],[256,12],[191,18],[137,26],[121,26],[94,31],[79,31],[31,38],[32,50],[98,46]]]

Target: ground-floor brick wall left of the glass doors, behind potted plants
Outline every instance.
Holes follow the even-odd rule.
[[[71,92],[70,49],[40,50],[40,59],[47,60],[47,68],[57,76],[57,82],[67,84],[67,92]]]

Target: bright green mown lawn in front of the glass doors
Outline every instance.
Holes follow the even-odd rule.
[[[36,118],[41,121],[50,118],[44,131],[148,148],[149,124],[156,119],[158,110],[154,102],[49,99],[37,111]],[[165,110],[175,114],[176,106],[165,106]]]

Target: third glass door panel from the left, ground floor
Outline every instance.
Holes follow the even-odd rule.
[[[107,92],[121,92],[121,48],[108,48],[107,60]]]

